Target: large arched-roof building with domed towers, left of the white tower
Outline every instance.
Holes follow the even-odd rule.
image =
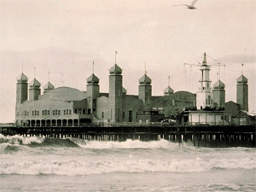
[[[16,84],[15,120],[17,126],[82,126],[88,123],[116,124],[155,122],[178,110],[195,107],[195,94],[174,92],[170,86],[163,96],[152,96],[152,81],[145,73],[138,82],[138,95],[128,95],[123,87],[122,69],[109,70],[109,92],[100,92],[94,73],[87,79],[86,91],[71,87],[44,85],[21,73]],[[43,92],[43,94],[42,94]]]

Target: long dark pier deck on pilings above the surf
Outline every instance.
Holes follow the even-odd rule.
[[[88,141],[124,142],[127,139],[156,141],[166,139],[173,143],[190,143],[196,147],[256,147],[255,125],[163,125],[114,124],[84,125],[79,127],[15,127],[1,126],[4,136],[76,137]]]

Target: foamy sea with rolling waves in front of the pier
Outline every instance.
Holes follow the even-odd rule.
[[[255,148],[0,135],[0,191],[255,191]]]

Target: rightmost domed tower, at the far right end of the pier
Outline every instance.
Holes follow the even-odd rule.
[[[240,104],[241,110],[248,111],[248,79],[241,74],[236,82],[236,103]]]

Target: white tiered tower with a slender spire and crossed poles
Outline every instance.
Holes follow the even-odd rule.
[[[212,108],[213,94],[211,91],[210,66],[207,65],[207,54],[204,53],[204,59],[201,64],[201,86],[196,92],[196,107],[197,109]]]

